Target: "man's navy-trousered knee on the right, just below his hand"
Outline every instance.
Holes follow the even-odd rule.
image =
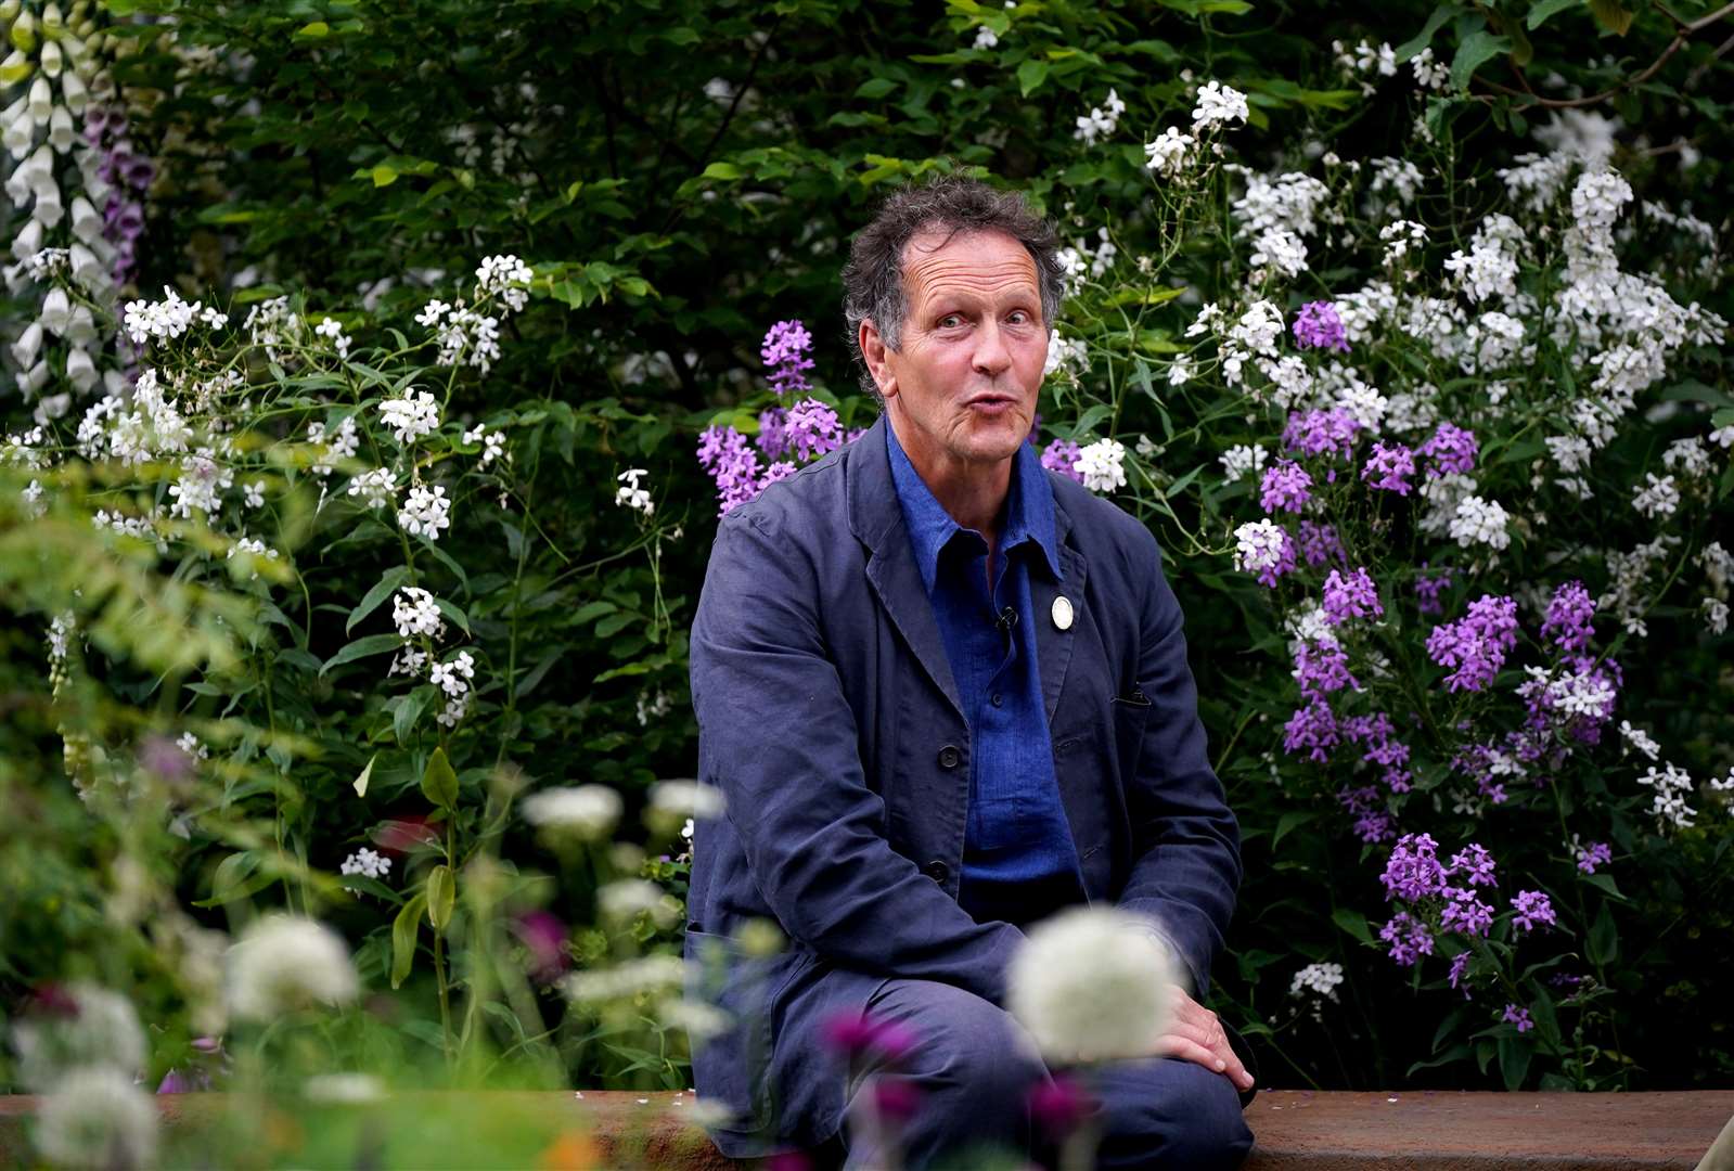
[[[1238,1168],[1252,1148],[1222,1074],[1164,1057],[1105,1070],[1105,1168]]]

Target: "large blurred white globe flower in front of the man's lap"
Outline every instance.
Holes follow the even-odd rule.
[[[1144,919],[1094,906],[1030,928],[1006,978],[1006,1006],[1044,1055],[1101,1062],[1150,1055],[1170,1013],[1176,973]]]

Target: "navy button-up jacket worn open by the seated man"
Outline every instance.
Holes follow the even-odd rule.
[[[843,1114],[818,1029],[886,978],[1004,1003],[1023,933],[957,904],[969,730],[891,482],[884,418],[723,517],[692,628],[699,779],[692,994],[737,1024],[697,1050],[735,1112],[725,1154],[818,1143]],[[1091,902],[1160,925],[1203,996],[1240,885],[1240,833],[1205,755],[1181,609],[1150,531],[1061,475],[1059,583],[1032,578],[1061,803]],[[1068,630],[1049,618],[1058,595]],[[772,919],[787,945],[733,940]],[[801,1043],[777,1044],[799,1036]]]

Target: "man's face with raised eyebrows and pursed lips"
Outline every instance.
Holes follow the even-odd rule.
[[[1047,361],[1035,260],[1006,232],[924,232],[903,290],[902,349],[869,363],[898,441],[928,475],[1009,468]]]

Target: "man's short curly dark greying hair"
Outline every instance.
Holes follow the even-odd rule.
[[[862,389],[879,394],[867,356],[860,349],[862,321],[872,321],[886,349],[896,350],[903,335],[909,298],[903,291],[903,250],[928,231],[1006,232],[1035,260],[1037,286],[1042,295],[1042,324],[1053,328],[1065,297],[1065,269],[1059,267],[1059,236],[1054,226],[1030,210],[1016,191],[995,191],[978,179],[945,175],[922,186],[893,193],[879,213],[850,245],[850,262],[843,265],[843,319],[850,345],[860,363]]]

